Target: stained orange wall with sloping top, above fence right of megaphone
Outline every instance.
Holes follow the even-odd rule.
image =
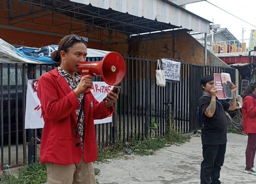
[[[182,63],[204,65],[204,47],[186,31],[157,33],[129,40],[129,53],[143,58],[170,58]],[[225,65],[218,57],[207,52],[207,63]]]

